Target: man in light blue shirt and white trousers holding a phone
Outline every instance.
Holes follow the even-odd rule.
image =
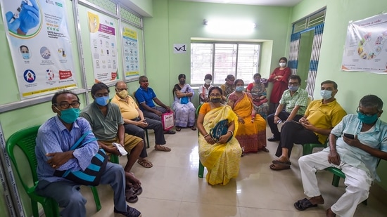
[[[298,159],[304,192],[310,199],[300,199],[296,209],[305,210],[324,204],[317,185],[316,171],[330,166],[345,174],[345,193],[326,210],[326,216],[353,216],[357,204],[368,198],[372,180],[379,180],[376,166],[387,160],[387,124],[379,119],[383,101],[374,95],[364,96],[357,114],[348,114],[332,129],[329,147],[322,152]]]

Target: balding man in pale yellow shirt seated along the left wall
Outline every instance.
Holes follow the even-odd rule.
[[[124,81],[118,81],[115,84],[115,93],[116,94],[111,102],[117,104],[118,107],[120,107],[120,111],[125,123],[125,133],[144,139],[144,129],[153,129],[153,131],[155,131],[156,140],[155,150],[170,152],[171,149],[165,146],[166,142],[161,121],[144,118],[144,114],[137,106],[137,103],[134,102],[131,96],[129,96],[129,93],[127,92],[127,85]],[[146,147],[144,145],[144,148],[141,151],[139,160],[137,162],[141,164],[141,166],[150,168],[153,166],[153,164],[145,159],[146,157],[148,157],[148,154],[146,153]]]

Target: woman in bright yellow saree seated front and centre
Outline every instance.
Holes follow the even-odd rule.
[[[222,89],[214,86],[208,91],[210,103],[203,103],[199,110],[197,127],[199,130],[199,158],[208,170],[206,180],[210,185],[227,185],[239,173],[242,149],[234,132],[238,129],[236,114],[228,105],[222,105]],[[215,141],[210,129],[221,120],[227,119],[227,133]]]

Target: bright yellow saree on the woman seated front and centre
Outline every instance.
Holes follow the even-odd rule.
[[[205,114],[203,126],[209,132],[217,122],[228,119],[235,122],[235,132],[238,129],[238,119],[229,106],[221,106]],[[231,138],[228,143],[214,145],[208,144],[202,135],[198,138],[199,157],[201,163],[208,170],[206,180],[210,185],[227,185],[231,178],[236,178],[239,173],[241,161],[241,146],[236,138]]]

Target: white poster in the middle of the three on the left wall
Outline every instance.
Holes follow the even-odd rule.
[[[87,18],[95,83],[115,81],[119,79],[115,20],[95,11],[87,11]]]

